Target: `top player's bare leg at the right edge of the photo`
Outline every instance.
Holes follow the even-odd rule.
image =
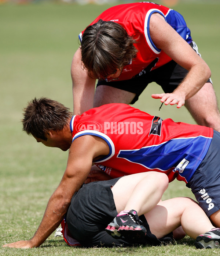
[[[194,96],[186,100],[185,106],[197,124],[220,132],[220,113],[212,83],[205,83]]]

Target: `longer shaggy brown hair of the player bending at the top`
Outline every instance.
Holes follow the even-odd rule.
[[[99,19],[88,26],[82,36],[81,54],[84,68],[92,78],[106,78],[117,68],[128,65],[136,56],[136,40],[116,22]]]

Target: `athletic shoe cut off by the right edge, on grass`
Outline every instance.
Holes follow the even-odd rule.
[[[197,249],[220,248],[220,228],[213,228],[205,234],[196,238],[195,247]]]

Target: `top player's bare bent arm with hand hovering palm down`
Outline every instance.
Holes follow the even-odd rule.
[[[153,14],[150,18],[150,35],[158,49],[162,49],[176,63],[189,71],[173,93],[153,94],[152,97],[161,99],[166,105],[177,104],[177,107],[181,107],[185,100],[202,88],[211,76],[211,71],[205,61],[159,14]]]

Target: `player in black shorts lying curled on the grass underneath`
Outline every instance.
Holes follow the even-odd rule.
[[[186,232],[196,248],[219,248],[220,239],[207,236],[220,229],[198,203],[184,197],[160,200],[167,187],[167,176],[151,171],[83,185],[62,222],[65,241],[85,247],[156,246]]]

